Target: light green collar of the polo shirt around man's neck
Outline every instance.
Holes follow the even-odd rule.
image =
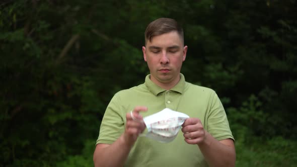
[[[161,87],[159,87],[158,85],[156,85],[151,79],[151,74],[146,75],[145,77],[145,86],[148,88],[148,90],[150,90],[150,92],[152,92],[155,96],[158,96],[158,94],[166,91],[166,89],[163,89]],[[184,89],[185,89],[185,76],[180,73],[180,80],[178,81],[177,85],[174,86],[172,89],[170,89],[171,91],[175,91],[178,92],[180,94],[183,94]]]

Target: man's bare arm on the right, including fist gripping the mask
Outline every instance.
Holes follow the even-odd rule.
[[[197,144],[209,166],[235,166],[236,152],[232,139],[216,140],[198,118],[187,119],[182,128],[185,141]]]

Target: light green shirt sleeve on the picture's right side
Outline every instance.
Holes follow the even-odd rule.
[[[224,107],[215,92],[211,97],[210,110],[207,118],[208,132],[217,140],[228,138],[234,140]]]

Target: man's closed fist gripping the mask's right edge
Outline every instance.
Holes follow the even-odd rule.
[[[200,119],[188,118],[182,125],[185,141],[189,144],[202,143],[206,138],[206,132],[202,126]]]

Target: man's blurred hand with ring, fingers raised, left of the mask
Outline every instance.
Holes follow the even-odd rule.
[[[126,114],[126,126],[124,132],[125,142],[134,144],[138,135],[145,129],[142,116],[139,112],[147,111],[147,107],[137,106],[133,111]]]

